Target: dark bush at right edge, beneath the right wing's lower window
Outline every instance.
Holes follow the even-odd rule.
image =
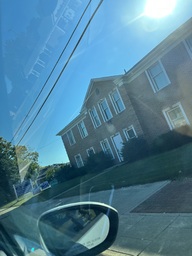
[[[152,143],[153,153],[162,153],[192,142],[192,131],[189,126],[182,126],[160,135]]]

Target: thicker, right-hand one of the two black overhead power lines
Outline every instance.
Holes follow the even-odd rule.
[[[66,61],[64,67],[62,68],[62,70],[61,70],[61,72],[60,72],[58,78],[56,79],[56,81],[55,81],[55,83],[53,84],[51,90],[49,91],[47,97],[45,98],[45,100],[43,101],[41,107],[39,108],[38,112],[36,113],[35,117],[33,118],[31,124],[28,126],[27,130],[25,131],[25,133],[23,134],[23,136],[21,137],[21,139],[20,139],[19,142],[17,143],[17,146],[18,146],[19,143],[23,140],[23,138],[25,137],[25,135],[27,134],[27,132],[29,131],[29,129],[31,128],[31,126],[33,125],[33,123],[35,122],[36,118],[38,117],[39,113],[41,112],[42,108],[44,107],[46,101],[48,100],[48,98],[50,97],[50,95],[51,95],[51,93],[53,92],[54,88],[56,87],[57,82],[59,81],[61,75],[63,74],[64,70],[66,69],[67,65],[69,64],[69,61],[71,60],[71,58],[72,58],[74,52],[76,51],[78,45],[80,44],[80,42],[81,42],[81,40],[82,40],[82,38],[83,38],[85,32],[87,31],[87,29],[88,29],[88,27],[89,27],[89,25],[90,25],[92,19],[94,18],[95,14],[96,14],[97,11],[99,10],[99,8],[100,8],[101,4],[103,3],[103,1],[104,1],[104,0],[100,0],[100,2],[99,2],[99,4],[97,5],[95,11],[94,11],[93,14],[91,15],[91,17],[90,17],[90,19],[89,19],[87,25],[85,26],[85,28],[84,28],[84,30],[83,30],[83,32],[82,32],[82,34],[81,34],[79,40],[77,41],[75,47],[73,48],[73,50],[72,50],[72,52],[71,52],[71,54],[70,54],[68,60]]]

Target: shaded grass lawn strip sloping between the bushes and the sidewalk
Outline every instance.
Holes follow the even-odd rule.
[[[154,155],[140,161],[116,166],[102,173],[90,173],[83,177],[58,184],[30,199],[28,203],[71,197],[88,192],[102,191],[176,179],[192,174],[192,144]],[[62,193],[62,194],[61,194]]]

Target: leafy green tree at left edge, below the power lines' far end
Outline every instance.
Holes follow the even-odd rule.
[[[14,193],[12,185],[21,180],[21,173],[26,178],[35,179],[39,170],[38,153],[25,146],[13,146],[0,137],[0,193],[1,201],[10,201]],[[2,199],[4,195],[4,199]]]

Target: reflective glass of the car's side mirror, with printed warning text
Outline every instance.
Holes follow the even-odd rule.
[[[44,246],[56,255],[77,255],[105,241],[109,218],[95,209],[61,209],[43,215],[39,230]]]

